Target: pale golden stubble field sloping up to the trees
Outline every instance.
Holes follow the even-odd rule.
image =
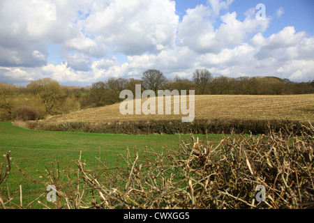
[[[142,100],[144,102],[144,100]],[[156,102],[157,105],[157,102]],[[179,105],[175,105],[179,106]],[[173,100],[172,100],[173,109]],[[107,122],[149,119],[177,119],[179,115],[122,115],[119,104],[85,109],[62,116],[53,122]],[[309,95],[195,95],[195,118],[207,119],[290,119],[314,121],[314,94]]]

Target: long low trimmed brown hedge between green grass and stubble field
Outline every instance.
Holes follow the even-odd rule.
[[[289,120],[240,120],[240,119],[195,119],[192,123],[182,123],[180,120],[163,121],[112,121],[109,123],[92,122],[62,122],[50,123],[28,121],[27,128],[31,130],[92,132],[112,134],[267,134],[269,128],[278,131],[285,129],[301,132],[300,121]]]

